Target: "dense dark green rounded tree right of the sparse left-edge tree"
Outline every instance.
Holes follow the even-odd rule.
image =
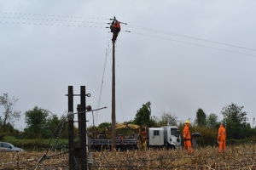
[[[32,111],[26,111],[25,116],[26,128],[24,132],[28,138],[41,139],[48,136],[49,111],[35,106]]]

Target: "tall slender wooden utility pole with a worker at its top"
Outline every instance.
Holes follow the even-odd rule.
[[[113,65],[112,65],[112,144],[111,149],[116,149],[116,130],[115,130],[115,60],[114,60],[114,42],[113,41]]]

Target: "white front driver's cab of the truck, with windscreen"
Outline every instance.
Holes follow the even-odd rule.
[[[181,138],[176,126],[161,127],[164,129],[164,142],[166,148],[176,149],[181,147]]]

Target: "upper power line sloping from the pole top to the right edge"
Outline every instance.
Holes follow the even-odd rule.
[[[253,49],[253,48],[245,48],[245,47],[241,47],[241,46],[231,45],[231,44],[223,43],[223,42],[215,42],[215,41],[202,39],[202,38],[198,38],[198,37],[189,37],[189,36],[185,36],[185,35],[182,35],[182,34],[177,34],[177,33],[168,32],[168,31],[155,30],[155,29],[151,29],[151,28],[147,28],[147,27],[143,27],[143,26],[135,26],[135,25],[130,25],[130,26],[129,25],[124,25],[124,26],[139,29],[139,30],[143,30],[143,31],[153,31],[153,32],[161,33],[161,34],[167,34],[167,35],[172,35],[172,36],[177,36],[177,37],[185,37],[185,38],[194,39],[194,40],[198,40],[198,41],[202,41],[202,42],[217,43],[217,44],[220,44],[220,45],[230,46],[230,47],[233,47],[233,48],[243,48],[243,49],[247,49],[247,50],[256,51],[256,49]]]

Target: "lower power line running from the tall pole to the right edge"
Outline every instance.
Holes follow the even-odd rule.
[[[173,41],[173,42],[187,43],[187,44],[190,44],[190,45],[195,45],[195,46],[204,47],[204,48],[212,48],[212,47],[210,47],[210,46],[201,45],[201,44],[197,44],[197,43],[183,42],[183,41],[173,40],[173,39],[166,38],[166,37],[151,36],[151,35],[148,35],[148,34],[138,33],[138,32],[134,32],[134,31],[131,31],[131,33],[138,34],[138,35],[143,35],[143,36],[148,36],[148,37],[156,37],[156,38],[160,38],[160,39],[166,39],[166,40]],[[235,53],[235,54],[243,54],[243,53],[239,53],[239,52],[236,52],[236,51],[230,51],[230,50],[223,49],[223,48],[212,48],[212,49],[218,49],[218,50],[220,50],[220,51],[226,51],[226,52]],[[255,57],[255,55],[252,55],[252,54],[243,54],[243,55]]]

